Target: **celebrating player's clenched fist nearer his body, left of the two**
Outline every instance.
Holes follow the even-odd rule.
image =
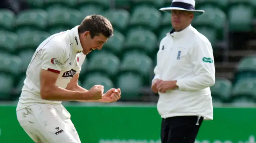
[[[88,90],[92,100],[100,100],[102,94],[104,93],[104,86],[94,85],[90,90]]]

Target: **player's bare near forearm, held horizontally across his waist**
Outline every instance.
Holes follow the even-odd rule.
[[[87,91],[71,91],[58,86],[41,89],[41,97],[45,100],[54,101],[91,100]]]

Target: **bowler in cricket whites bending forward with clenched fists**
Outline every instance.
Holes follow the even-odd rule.
[[[110,22],[103,16],[92,15],[38,46],[16,108],[20,125],[35,143],[81,143],[62,101],[110,103],[120,99],[120,89],[112,88],[103,94],[101,85],[90,90],[78,85],[86,55],[102,49],[112,35]]]

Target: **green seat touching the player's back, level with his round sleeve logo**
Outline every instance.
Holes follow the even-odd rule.
[[[32,60],[34,53],[35,53],[35,50],[22,50],[18,54],[18,56],[21,59],[20,71],[22,73],[26,73],[26,70],[28,68],[30,61]]]

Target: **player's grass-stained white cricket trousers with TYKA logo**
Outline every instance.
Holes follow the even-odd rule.
[[[36,104],[17,111],[17,118],[35,143],[81,143],[69,112],[61,104]]]

